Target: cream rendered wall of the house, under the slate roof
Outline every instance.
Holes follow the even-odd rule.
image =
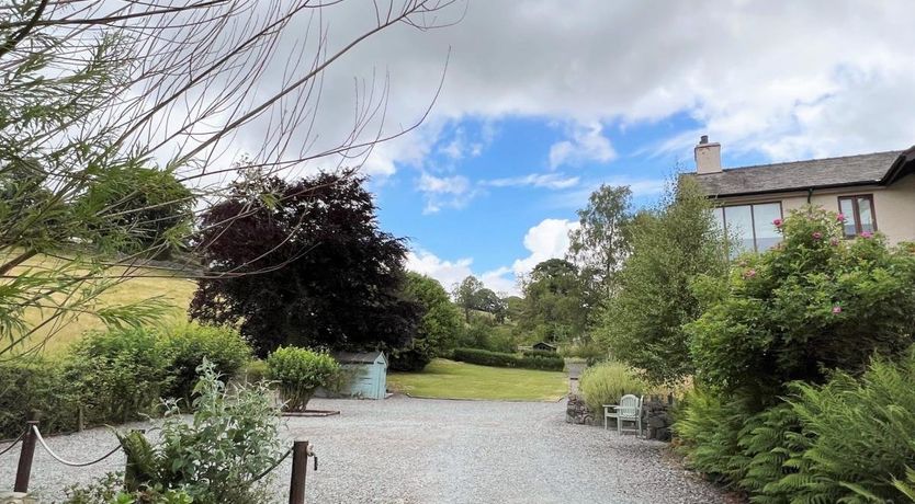
[[[856,186],[851,188],[815,190],[810,195],[810,203],[838,211],[838,197],[856,194],[872,194],[877,229],[886,236],[890,243],[915,241],[915,175],[897,181],[889,187]],[[716,203],[744,205],[748,203],[781,202],[784,216],[807,204],[807,192],[778,193],[759,196],[720,197]]]

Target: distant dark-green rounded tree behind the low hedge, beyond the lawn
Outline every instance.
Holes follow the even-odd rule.
[[[587,323],[588,307],[578,268],[562,259],[536,266],[523,283],[522,330],[539,339],[561,342],[580,336]]]

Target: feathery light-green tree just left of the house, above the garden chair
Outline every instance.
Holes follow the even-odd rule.
[[[653,381],[693,371],[684,324],[701,313],[691,288],[698,275],[723,275],[727,256],[711,203],[688,176],[670,184],[655,209],[631,225],[632,253],[619,291],[601,309],[595,336],[611,354]]]

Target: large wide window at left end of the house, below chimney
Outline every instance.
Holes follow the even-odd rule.
[[[781,203],[734,205],[715,208],[715,219],[741,252],[762,252],[781,241],[775,220],[781,219]]]

